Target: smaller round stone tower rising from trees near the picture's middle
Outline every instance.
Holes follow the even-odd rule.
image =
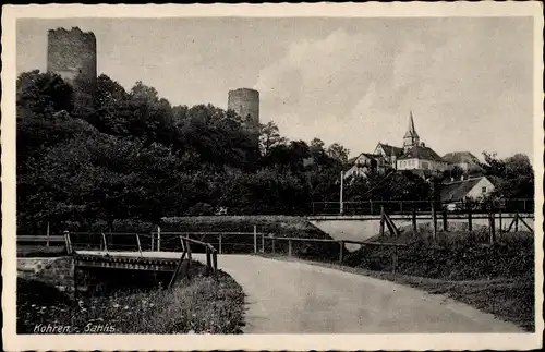
[[[229,90],[227,109],[242,118],[246,129],[259,142],[259,92],[249,88]]]

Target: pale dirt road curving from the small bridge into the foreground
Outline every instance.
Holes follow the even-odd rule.
[[[465,304],[361,275],[247,255],[218,266],[247,294],[246,333],[522,332]]]

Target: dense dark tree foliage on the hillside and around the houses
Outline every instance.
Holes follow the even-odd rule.
[[[339,198],[349,150],[318,138],[288,141],[261,126],[259,145],[233,111],[171,106],[142,82],[128,92],[98,77],[95,104],[82,106],[51,73],[17,78],[17,221],[36,232],[100,220],[229,214],[308,214],[312,202]],[[528,159],[528,158],[526,158]],[[491,174],[530,182],[528,160],[487,160]],[[533,182],[533,174],[532,182]],[[347,201],[420,199],[429,183],[409,173],[372,175],[346,186]]]

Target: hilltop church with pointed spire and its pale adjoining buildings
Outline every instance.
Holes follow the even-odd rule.
[[[409,170],[427,178],[433,172],[448,168],[446,160],[421,142],[412,111],[409,113],[409,126],[403,135],[403,147],[378,143],[373,154],[362,153],[349,162],[353,166],[344,173],[344,178],[365,177],[368,172],[384,174],[388,169]]]

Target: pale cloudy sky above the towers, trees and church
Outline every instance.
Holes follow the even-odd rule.
[[[97,72],[172,105],[227,108],[255,88],[262,123],[351,156],[402,145],[410,111],[439,155],[533,155],[531,17],[17,20],[17,73],[45,71],[47,32],[97,38]]]

